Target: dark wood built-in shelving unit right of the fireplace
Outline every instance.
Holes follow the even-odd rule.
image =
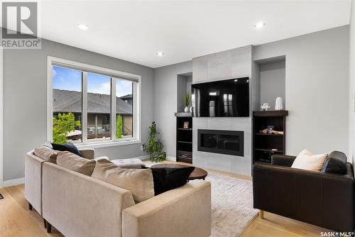
[[[253,111],[253,163],[271,162],[271,155],[285,154],[288,111]],[[268,126],[283,134],[261,133]]]

